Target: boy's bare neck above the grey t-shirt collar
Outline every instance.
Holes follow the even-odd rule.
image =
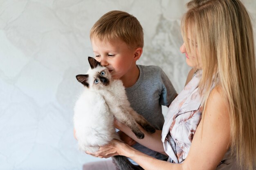
[[[123,82],[125,88],[135,85],[135,83],[139,79],[139,68],[137,67],[137,65],[135,65],[134,68],[130,69],[120,79]]]

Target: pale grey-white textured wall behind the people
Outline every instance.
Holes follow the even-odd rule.
[[[159,65],[182,90],[189,71],[180,17],[187,0],[0,0],[0,169],[79,170],[97,161],[76,148],[77,74],[92,56],[89,31],[110,10],[144,28],[139,64]],[[255,0],[243,1],[256,18]]]

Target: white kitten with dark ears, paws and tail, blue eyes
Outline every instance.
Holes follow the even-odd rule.
[[[130,107],[125,87],[121,80],[112,79],[106,67],[94,58],[88,57],[90,69],[87,74],[79,74],[76,79],[84,85],[84,91],[74,107],[74,129],[79,149],[95,153],[100,146],[118,139],[114,119],[126,124],[137,138],[144,133],[139,125],[149,133],[155,128]],[[121,170],[136,169],[124,156],[112,157]]]

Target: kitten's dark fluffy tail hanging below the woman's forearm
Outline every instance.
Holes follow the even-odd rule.
[[[117,164],[119,170],[141,170],[137,166],[133,165],[125,156],[113,156],[112,159]]]

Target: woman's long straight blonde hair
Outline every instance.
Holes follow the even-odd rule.
[[[214,83],[227,102],[231,151],[241,169],[256,162],[256,65],[253,29],[239,0],[192,0],[182,19],[186,48],[188,32],[198,45],[202,63],[199,89],[203,101]],[[204,106],[205,106],[204,102]],[[204,112],[203,112],[204,115]]]

